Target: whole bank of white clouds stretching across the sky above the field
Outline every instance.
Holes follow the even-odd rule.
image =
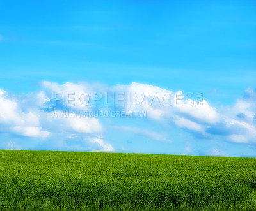
[[[15,140],[28,138],[41,145],[51,140],[52,145],[58,142],[57,149],[61,145],[62,150],[114,152],[115,146],[111,140],[104,139],[104,135],[115,128],[172,144],[172,137],[137,127],[138,118],[144,118],[156,125],[172,124],[206,141],[221,137],[223,142],[256,144],[256,92],[253,89],[247,89],[234,105],[214,108],[202,98],[202,93],[184,94],[136,82],[114,87],[42,82],[41,87],[38,92],[19,96],[0,90],[2,134]],[[99,115],[109,112],[114,115]],[[122,121],[118,126],[113,124],[111,119],[122,119],[120,113],[130,118],[134,126]],[[131,113],[145,113],[145,116],[131,116]],[[6,148],[13,145],[13,140],[6,142]],[[51,149],[51,144],[48,146]],[[212,152],[216,154],[218,150]]]

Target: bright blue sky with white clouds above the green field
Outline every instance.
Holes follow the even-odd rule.
[[[255,11],[0,0],[0,149],[256,157]]]

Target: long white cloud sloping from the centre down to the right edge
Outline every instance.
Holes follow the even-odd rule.
[[[115,91],[126,93],[126,112],[144,111],[150,119],[174,122],[204,137],[221,135],[231,142],[256,143],[256,92],[252,89],[246,90],[244,98],[235,105],[219,110],[205,100],[197,102],[186,98],[181,91],[147,84],[117,85]]]

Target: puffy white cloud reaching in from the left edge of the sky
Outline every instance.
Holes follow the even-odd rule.
[[[29,98],[30,97],[30,98]],[[102,126],[98,119],[86,117],[85,115],[76,115],[72,112],[54,111],[43,112],[40,110],[40,105],[48,98],[44,92],[38,94],[29,94],[22,101],[8,99],[5,91],[0,92],[0,124],[6,130],[17,135],[28,137],[47,137],[50,132],[59,131],[74,131],[77,133],[99,133],[102,131]],[[33,99],[35,103],[33,104]],[[26,107],[26,110],[31,112],[25,113],[21,108]],[[42,129],[44,127],[44,129]],[[8,129],[9,128],[9,129]],[[45,131],[47,128],[48,131]]]

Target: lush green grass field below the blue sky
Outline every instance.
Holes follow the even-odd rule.
[[[0,210],[256,210],[256,159],[0,150]]]

